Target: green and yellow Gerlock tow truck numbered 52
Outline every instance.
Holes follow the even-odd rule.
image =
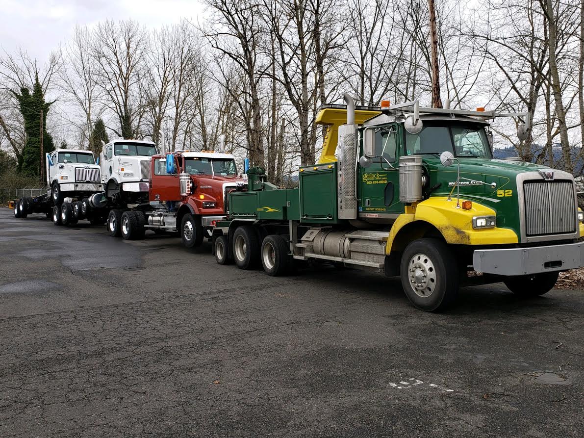
[[[213,231],[215,259],[286,273],[293,261],[400,276],[411,303],[440,311],[458,288],[503,281],[517,296],[554,287],[584,266],[582,211],[573,176],[493,158],[489,120],[527,114],[330,105],[317,164],[301,166],[297,189],[278,190],[251,168],[245,191]]]

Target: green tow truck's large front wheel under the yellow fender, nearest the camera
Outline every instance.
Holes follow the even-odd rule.
[[[456,258],[441,240],[422,238],[406,246],[400,274],[406,297],[420,310],[445,310],[458,294]]]

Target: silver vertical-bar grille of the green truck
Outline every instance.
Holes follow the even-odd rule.
[[[571,181],[526,181],[523,193],[527,236],[575,232],[576,206]]]

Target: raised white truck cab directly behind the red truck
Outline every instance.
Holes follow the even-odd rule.
[[[115,206],[148,201],[150,160],[157,154],[152,141],[113,140],[100,154],[105,195]]]

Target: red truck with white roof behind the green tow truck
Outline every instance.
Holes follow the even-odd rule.
[[[143,163],[140,162],[142,176]],[[140,187],[148,185],[145,198],[134,199],[135,203],[130,204],[125,189],[121,193],[110,190],[119,186],[123,189],[124,182],[106,183],[106,192],[89,199],[95,211],[108,212],[107,230],[114,237],[139,239],[147,230],[171,232],[180,234],[187,248],[199,246],[204,239],[211,238],[214,224],[224,220],[227,194],[245,182],[238,175],[235,157],[221,152],[163,153],[151,157],[148,164],[148,183],[137,182]]]

